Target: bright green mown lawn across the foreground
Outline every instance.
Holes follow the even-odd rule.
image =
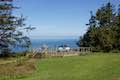
[[[93,54],[36,60],[28,76],[0,80],[120,80],[120,54]]]

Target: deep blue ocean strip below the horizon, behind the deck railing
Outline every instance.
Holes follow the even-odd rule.
[[[33,39],[32,48],[38,48],[47,45],[48,48],[56,48],[61,45],[68,45],[71,48],[77,48],[76,39]]]

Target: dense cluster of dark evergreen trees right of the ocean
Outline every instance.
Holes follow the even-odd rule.
[[[93,51],[120,51],[120,4],[108,2],[90,14],[88,30],[77,45],[93,47]]]

